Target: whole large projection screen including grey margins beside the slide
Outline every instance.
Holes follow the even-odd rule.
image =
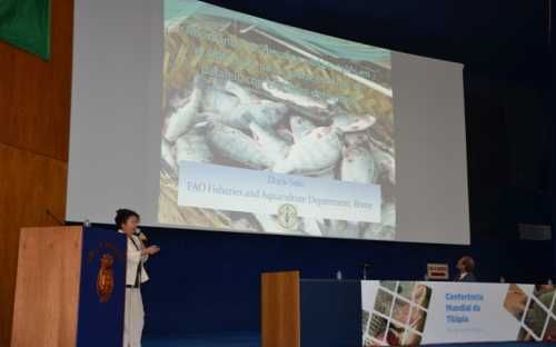
[[[199,1],[78,0],[70,133],[68,220],[469,242],[458,63]]]

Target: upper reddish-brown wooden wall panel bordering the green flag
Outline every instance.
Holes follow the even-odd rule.
[[[51,60],[0,41],[0,143],[68,160],[73,1],[52,0]]]

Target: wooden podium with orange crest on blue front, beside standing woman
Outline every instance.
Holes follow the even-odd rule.
[[[121,346],[126,247],[115,230],[21,229],[11,346]]]

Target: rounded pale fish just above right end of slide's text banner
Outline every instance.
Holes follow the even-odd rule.
[[[341,180],[370,184],[375,181],[375,160],[367,147],[344,146],[341,159]]]

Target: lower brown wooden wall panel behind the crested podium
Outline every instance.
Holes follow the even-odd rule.
[[[0,143],[0,344],[11,331],[19,230],[56,226],[66,210],[67,163]]]

